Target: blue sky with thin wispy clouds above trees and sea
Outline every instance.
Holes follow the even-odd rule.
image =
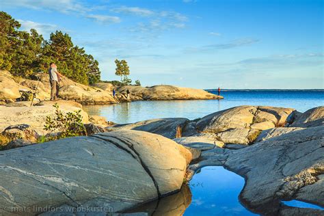
[[[1,0],[44,38],[67,32],[116,80],[144,86],[324,88],[323,0]]]

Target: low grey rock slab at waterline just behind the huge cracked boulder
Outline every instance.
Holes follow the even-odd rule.
[[[136,130],[147,131],[163,135],[164,137],[173,139],[176,137],[177,128],[182,129],[189,120],[187,118],[158,118],[152,120],[146,120],[141,122],[135,122],[133,124],[118,124],[111,126],[108,129],[111,131],[118,130]]]

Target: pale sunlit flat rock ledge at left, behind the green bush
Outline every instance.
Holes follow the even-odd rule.
[[[82,110],[79,103],[66,100],[44,101],[42,105],[30,107],[30,102],[11,103],[8,106],[0,106],[0,131],[11,125],[28,124],[40,135],[44,135],[44,122],[46,116],[55,116],[55,107],[57,103],[59,109],[64,113],[81,109],[83,123],[88,123],[88,116]]]

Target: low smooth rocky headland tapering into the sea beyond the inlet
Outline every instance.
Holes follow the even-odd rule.
[[[118,87],[117,92],[126,94],[127,89],[131,92],[131,100],[204,100],[223,98],[204,90],[172,85],[154,85],[152,87],[126,85]]]

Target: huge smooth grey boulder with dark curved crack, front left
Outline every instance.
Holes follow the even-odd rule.
[[[0,214],[45,206],[123,211],[178,191],[191,153],[143,131],[72,137],[0,155]],[[39,207],[39,208],[37,208]]]

